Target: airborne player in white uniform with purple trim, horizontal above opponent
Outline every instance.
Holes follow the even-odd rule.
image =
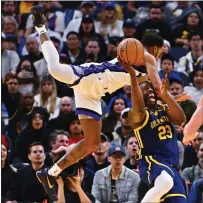
[[[58,176],[62,170],[95,151],[100,143],[100,118],[102,114],[100,99],[105,93],[112,93],[124,85],[130,85],[130,75],[123,69],[117,59],[101,64],[85,63],[80,66],[60,64],[59,54],[50,41],[44,25],[43,7],[35,6],[31,12],[35,29],[40,36],[42,52],[49,73],[55,79],[74,89],[76,112],[79,115],[85,137],[53,167],[37,172],[37,177],[48,195],[56,200],[57,184],[53,177]],[[160,93],[161,80],[156,67],[156,59],[162,53],[163,40],[159,36],[155,38],[157,38],[157,46],[151,51],[156,58],[145,51],[144,58],[139,65],[146,66],[147,74],[154,88]],[[136,75],[138,80],[147,77],[146,74],[141,74],[138,71],[136,71]]]

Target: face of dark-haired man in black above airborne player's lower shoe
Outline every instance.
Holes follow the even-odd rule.
[[[41,164],[45,160],[44,149],[40,145],[33,146],[28,155],[29,160],[35,164]]]

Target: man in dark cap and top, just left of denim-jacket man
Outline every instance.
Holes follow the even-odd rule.
[[[101,143],[97,147],[96,151],[92,153],[92,157],[87,160],[87,168],[96,173],[98,170],[106,168],[109,166],[108,161],[108,151],[109,151],[110,143],[107,136],[102,133],[101,134]]]

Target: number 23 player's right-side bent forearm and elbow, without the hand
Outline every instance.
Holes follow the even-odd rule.
[[[182,123],[184,123],[186,121],[184,111],[175,101],[170,92],[168,92],[167,97],[162,99],[168,104],[168,116],[170,117],[171,122],[176,125],[181,125]]]

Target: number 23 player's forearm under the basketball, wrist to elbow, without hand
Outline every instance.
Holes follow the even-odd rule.
[[[132,110],[134,115],[136,115],[136,122],[141,122],[145,115],[145,102],[138,84],[136,72],[134,71],[133,73],[130,73],[130,77]]]

